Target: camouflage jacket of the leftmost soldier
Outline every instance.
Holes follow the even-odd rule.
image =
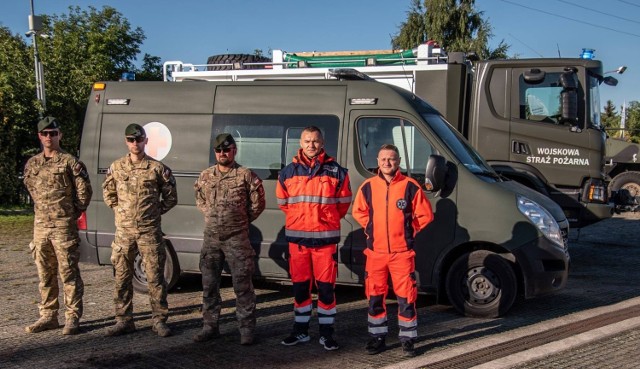
[[[93,194],[85,165],[64,151],[48,160],[44,153],[29,159],[24,184],[34,202],[34,224],[47,228],[75,226]]]

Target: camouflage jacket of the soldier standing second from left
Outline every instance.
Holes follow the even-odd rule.
[[[135,164],[129,155],[114,161],[102,194],[118,228],[160,226],[160,216],[178,203],[171,169],[148,155]]]

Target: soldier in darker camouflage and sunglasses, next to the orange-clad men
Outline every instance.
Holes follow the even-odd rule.
[[[240,344],[251,345],[256,326],[252,281],[256,254],[249,243],[249,223],[264,210],[264,188],[255,173],[235,162],[237,147],[230,134],[218,135],[213,148],[217,163],[205,169],[194,186],[205,229],[200,253],[204,325],[193,340],[204,342],[220,334],[220,278],[226,260],[236,294]]]

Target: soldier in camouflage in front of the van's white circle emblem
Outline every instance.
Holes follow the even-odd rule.
[[[133,261],[140,252],[149,288],[153,331],[171,335],[167,326],[169,306],[164,280],[167,258],[160,216],[178,202],[176,181],[171,170],[144,152],[148,138],[135,123],[125,129],[129,154],[114,161],[102,184],[104,202],[115,213],[116,235],[111,245],[115,275],[116,324],[107,336],[135,331],[133,323]]]

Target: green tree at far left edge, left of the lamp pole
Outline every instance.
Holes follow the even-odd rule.
[[[23,188],[18,175],[37,147],[35,77],[32,54],[24,39],[0,27],[0,204],[15,204]],[[28,148],[31,148],[31,152]]]

